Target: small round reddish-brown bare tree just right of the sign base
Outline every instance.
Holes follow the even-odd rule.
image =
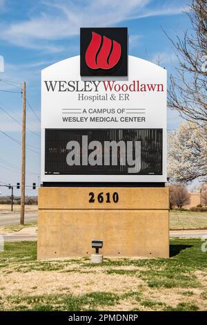
[[[170,209],[173,206],[177,206],[181,210],[181,207],[190,203],[190,194],[184,185],[170,185],[169,192]]]

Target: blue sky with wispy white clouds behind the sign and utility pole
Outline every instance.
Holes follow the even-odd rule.
[[[184,13],[187,11],[185,0],[0,0],[0,55],[5,60],[0,80],[17,87],[0,81],[1,131],[21,142],[21,125],[3,109],[21,123],[18,87],[23,80],[27,85],[27,100],[40,117],[41,69],[79,55],[80,27],[128,27],[130,55],[159,62],[168,73],[175,72],[177,57],[162,29],[172,39],[183,35],[190,28]],[[168,111],[168,129],[176,129],[180,120],[175,111]],[[39,183],[40,122],[29,106],[27,127],[30,131],[26,134],[26,184],[32,185]],[[0,145],[0,183],[21,182],[21,146],[3,133]],[[0,192],[9,193],[3,187]],[[17,189],[15,194],[19,195]],[[27,194],[36,195],[37,191],[27,187]]]

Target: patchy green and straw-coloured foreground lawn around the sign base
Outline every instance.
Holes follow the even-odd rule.
[[[207,252],[172,239],[170,259],[37,261],[36,242],[0,252],[0,310],[207,310]]]

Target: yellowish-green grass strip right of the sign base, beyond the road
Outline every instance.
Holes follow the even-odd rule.
[[[170,229],[206,228],[207,212],[170,211]]]

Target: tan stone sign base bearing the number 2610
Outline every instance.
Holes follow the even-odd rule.
[[[169,257],[168,188],[41,187],[38,259]]]

